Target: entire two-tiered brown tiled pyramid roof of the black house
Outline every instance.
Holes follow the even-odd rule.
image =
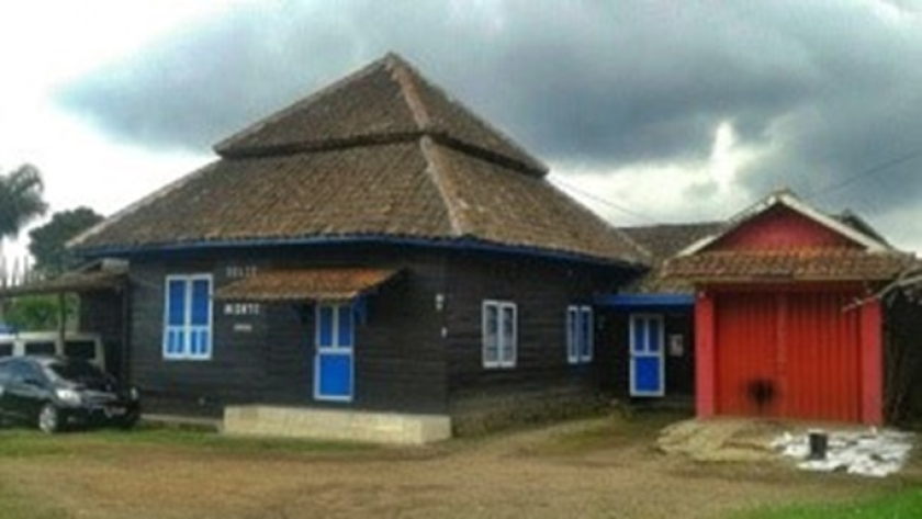
[[[630,238],[395,55],[239,132],[71,242],[91,255],[411,239],[641,262]]]

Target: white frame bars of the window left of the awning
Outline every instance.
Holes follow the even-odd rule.
[[[207,325],[193,326],[192,325],[192,287],[195,281],[207,281],[209,283],[209,317]],[[183,315],[182,325],[170,325],[170,283],[173,281],[181,281],[184,284],[185,291],[185,312]],[[214,346],[214,277],[212,274],[168,274],[164,280],[164,341],[161,345],[165,360],[211,360],[212,349]],[[181,330],[183,332],[183,340],[180,351],[169,351],[170,332]],[[192,352],[192,334],[205,331],[207,340],[205,341],[204,352]]]

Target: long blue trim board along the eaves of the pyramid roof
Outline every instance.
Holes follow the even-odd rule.
[[[236,249],[252,247],[290,247],[290,246],[336,246],[336,245],[393,245],[400,247],[421,247],[430,249],[449,249],[459,251],[519,253],[538,256],[548,259],[580,261],[584,263],[621,267],[632,270],[645,270],[648,267],[640,262],[616,259],[604,259],[577,252],[544,249],[527,245],[503,245],[462,237],[458,239],[409,238],[379,235],[360,236],[304,236],[300,238],[251,238],[236,240],[202,240],[180,244],[147,244],[128,246],[103,246],[76,248],[75,252],[86,258],[131,257],[151,252],[184,252],[193,250]]]

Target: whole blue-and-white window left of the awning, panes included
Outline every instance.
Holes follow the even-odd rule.
[[[211,359],[211,274],[167,277],[164,298],[164,359]]]

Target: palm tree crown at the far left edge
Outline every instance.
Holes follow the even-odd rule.
[[[22,227],[45,214],[43,192],[42,174],[34,166],[0,174],[0,241],[15,238]]]

